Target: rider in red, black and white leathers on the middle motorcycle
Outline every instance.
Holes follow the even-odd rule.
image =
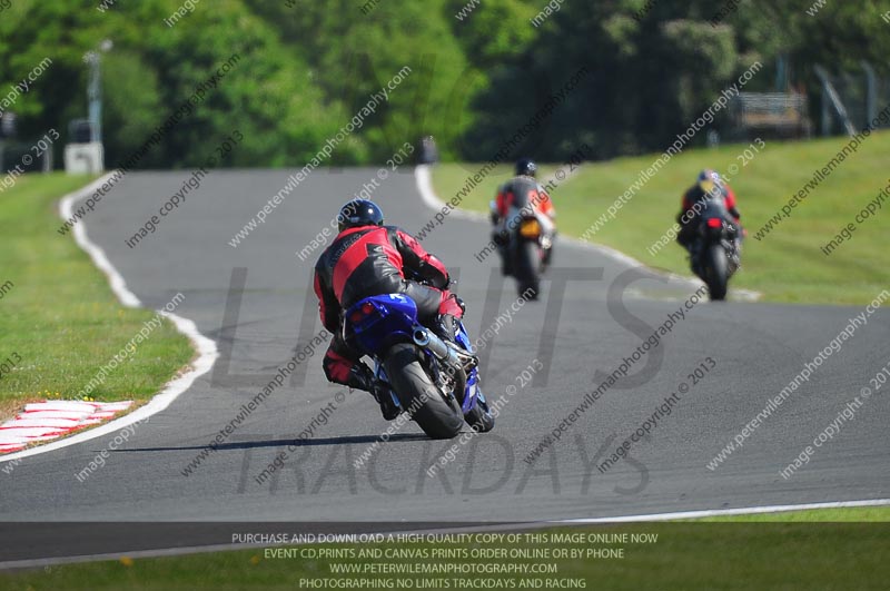
[[[505,275],[511,273],[510,257],[505,247],[510,242],[510,232],[515,229],[512,226],[515,225],[514,220],[520,211],[534,211],[541,223],[542,233],[548,239],[552,240],[556,233],[553,223],[556,209],[544,186],[535,178],[537,165],[531,158],[521,158],[516,161],[515,171],[515,177],[498,187],[491,211],[492,239],[498,246]]]

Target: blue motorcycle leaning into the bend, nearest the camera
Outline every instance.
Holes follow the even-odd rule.
[[[494,427],[478,387],[478,359],[457,323],[455,347],[417,322],[417,305],[402,294],[366,297],[344,314],[344,338],[375,362],[375,374],[393,402],[429,437],[452,439],[466,422],[473,430]]]

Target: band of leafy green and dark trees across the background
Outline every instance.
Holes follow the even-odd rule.
[[[102,39],[107,161],[139,149],[198,85],[237,55],[204,100],[140,160],[146,168],[201,165],[238,129],[221,166],[297,166],[402,71],[402,82],[333,154],[329,164],[383,162],[404,141],[436,136],[444,158],[487,160],[578,71],[553,114],[511,156],[594,158],[662,150],[754,61],[749,90],[809,90],[812,68],[890,76],[884,10],[877,2],[743,0],[565,1],[540,26],[544,0],[215,0],[168,27],[181,0],[14,1],[0,17],[0,89],[52,60],[16,100],[23,138],[87,112],[83,55]],[[778,69],[782,58],[787,68]],[[0,97],[6,91],[0,90]],[[813,111],[818,112],[818,111]],[[716,121],[720,129],[723,121]],[[700,134],[695,141],[703,141]],[[57,161],[61,161],[57,158]]]

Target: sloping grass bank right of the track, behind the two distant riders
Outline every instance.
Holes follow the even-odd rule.
[[[792,210],[789,219],[782,220],[762,240],[753,238],[846,142],[843,138],[805,142],[770,140],[734,176],[730,184],[739,196],[742,223],[749,237],[742,256],[743,268],[733,277],[731,288],[755,289],[771,302],[861,305],[890,287],[890,267],[884,254],[890,200],[830,256],[820,250],[888,185],[888,131],[872,134],[857,154],[848,157]],[[691,275],[684,252],[678,245],[669,244],[654,256],[647,248],[673,224],[681,195],[693,184],[698,173],[702,168],[713,168],[725,174],[731,165],[741,165],[736,157],[745,148],[746,145],[730,145],[688,150],[676,156],[591,240],[622,250],[651,267]],[[577,175],[553,191],[560,230],[581,237],[657,157],[649,155],[584,165]],[[452,198],[479,168],[477,164],[436,167],[433,173],[436,193],[443,200]],[[538,176],[546,178],[554,168],[544,166]],[[487,211],[497,185],[506,180],[510,173],[510,167],[500,167],[464,199],[463,206]],[[479,236],[478,242],[482,249],[487,236]]]

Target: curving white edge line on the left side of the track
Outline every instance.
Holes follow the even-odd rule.
[[[72,215],[71,211],[73,209],[73,205],[97,188],[101,187],[110,177],[111,173],[95,180],[86,187],[62,197],[59,207],[62,219],[69,219]],[[121,276],[120,273],[113,267],[113,265],[111,265],[111,262],[106,256],[105,250],[102,250],[102,248],[97,244],[90,242],[90,239],[87,237],[87,230],[83,224],[83,220],[79,220],[72,228],[75,240],[77,242],[78,246],[86,250],[87,254],[90,255],[90,258],[92,258],[93,264],[106,274],[108,277],[108,283],[111,285],[111,290],[123,306],[130,308],[140,307],[142,303],[138,297],[136,297],[136,294],[127,288],[127,282],[123,279],[123,276]],[[192,321],[176,314],[170,314],[168,312],[158,312],[162,316],[169,318],[176,326],[176,329],[188,337],[188,339],[195,345],[195,348],[198,352],[198,357],[191,362],[188,371],[168,382],[164,386],[164,390],[156,394],[148,402],[148,404],[140,406],[129,414],[126,414],[119,418],[115,418],[113,421],[99,425],[95,429],[78,433],[77,435],[71,435],[70,437],[65,437],[47,443],[46,445],[39,445],[37,447],[31,447],[29,450],[22,450],[20,452],[0,456],[0,463],[29,457],[41,453],[60,450],[69,445],[83,443],[85,441],[113,433],[115,431],[119,431],[134,423],[147,421],[151,415],[165,410],[180,394],[191,387],[191,384],[195,382],[195,380],[209,372],[214,366],[216,358],[219,356],[216,342],[207,338],[200,332],[198,332],[198,327]]]

